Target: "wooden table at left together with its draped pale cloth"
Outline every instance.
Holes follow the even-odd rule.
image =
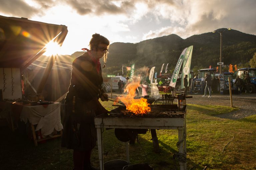
[[[37,142],[39,141],[62,135],[63,126],[60,119],[60,106],[61,103],[58,102],[35,106],[23,104],[22,102],[12,102],[11,114],[14,124],[17,124],[19,119],[30,124],[34,144],[37,146]],[[54,129],[60,131],[60,134],[49,136]],[[36,131],[38,130],[41,130],[41,134],[47,137],[37,139]]]

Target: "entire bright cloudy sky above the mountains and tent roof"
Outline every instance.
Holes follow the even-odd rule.
[[[88,47],[99,33],[113,42],[140,42],[229,28],[256,35],[255,0],[0,0],[0,15],[66,25],[61,54]]]

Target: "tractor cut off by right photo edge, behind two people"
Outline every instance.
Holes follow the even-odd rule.
[[[233,81],[235,81],[236,77],[239,75],[239,77],[243,80],[243,87],[242,92],[246,92],[246,85],[245,85],[245,75],[249,74],[251,77],[251,83],[248,86],[248,92],[249,93],[256,93],[256,68],[240,68],[236,70],[233,74]]]

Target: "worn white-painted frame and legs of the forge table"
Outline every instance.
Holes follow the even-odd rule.
[[[186,110],[186,107],[184,108]],[[186,163],[186,112],[184,118],[113,118],[101,114],[94,118],[97,129],[100,169],[104,170],[103,161],[103,128],[134,128],[134,129],[175,129],[178,130],[180,170],[187,169]],[[126,156],[129,162],[129,148],[126,142]]]

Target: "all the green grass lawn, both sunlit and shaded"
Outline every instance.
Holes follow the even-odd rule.
[[[102,104],[108,110],[115,108],[111,101]],[[204,166],[211,170],[256,169],[256,115],[241,120],[216,117],[235,110],[238,108],[192,104],[187,106],[188,170],[195,165],[193,170],[202,170]],[[18,132],[7,133],[3,128],[0,132],[4,136],[0,141],[2,169],[72,169],[72,150],[61,148],[60,138],[48,140],[35,147],[31,140],[19,137]],[[155,170],[174,169],[173,154],[178,152],[178,131],[156,132],[161,152],[153,151],[151,134],[148,131],[146,134],[139,134],[140,143],[129,145],[130,161],[132,164],[148,163]],[[114,129],[104,129],[103,148],[105,162],[114,159],[126,160],[125,143],[115,137]],[[93,149],[91,159],[99,166],[97,147]],[[179,169],[177,161],[175,165]]]

